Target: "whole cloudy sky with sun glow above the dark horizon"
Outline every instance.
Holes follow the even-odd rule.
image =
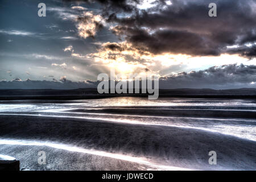
[[[89,88],[111,68],[160,88],[256,88],[255,17],[256,0],[2,0],[0,89]]]

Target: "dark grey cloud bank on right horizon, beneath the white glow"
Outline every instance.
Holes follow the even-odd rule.
[[[197,72],[182,72],[162,77],[159,81],[160,88],[239,88],[242,86],[255,88],[256,66],[222,65]]]

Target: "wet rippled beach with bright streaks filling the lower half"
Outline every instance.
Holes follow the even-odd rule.
[[[253,99],[2,101],[0,154],[21,170],[255,170],[255,111]]]

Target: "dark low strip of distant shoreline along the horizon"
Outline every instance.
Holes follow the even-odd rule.
[[[147,97],[148,94],[98,94],[96,88],[56,89],[0,89],[0,100],[81,100],[109,97]],[[159,89],[159,97],[184,98],[256,98],[256,89]]]

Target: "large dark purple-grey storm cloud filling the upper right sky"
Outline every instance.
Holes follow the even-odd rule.
[[[134,11],[130,17],[112,14],[108,22],[118,25],[113,32],[138,48],[152,53],[220,55],[226,46],[256,41],[255,0],[173,0],[171,6],[159,5]],[[208,16],[209,3],[217,4],[217,17]],[[254,47],[233,50],[242,56],[255,56]]]

